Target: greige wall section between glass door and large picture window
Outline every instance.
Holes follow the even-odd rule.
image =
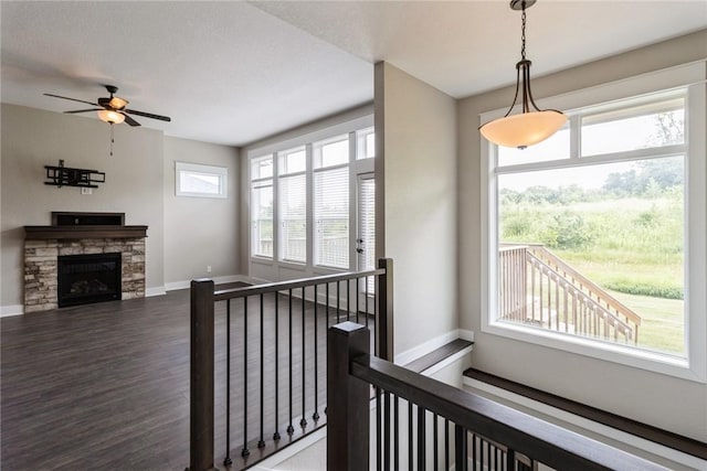
[[[376,65],[376,256],[393,259],[393,353],[457,328],[456,103]]]

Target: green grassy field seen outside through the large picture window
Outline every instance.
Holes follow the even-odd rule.
[[[544,244],[635,311],[639,346],[685,354],[682,200],[504,204],[500,233],[504,242]]]

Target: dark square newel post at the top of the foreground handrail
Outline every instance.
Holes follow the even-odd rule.
[[[349,372],[352,358],[370,353],[370,331],[347,321],[327,335],[327,469],[368,471],[370,386]]]

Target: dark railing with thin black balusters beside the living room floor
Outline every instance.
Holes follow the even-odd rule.
[[[392,358],[392,260],[382,258],[373,270],[219,291],[213,280],[192,280],[188,470],[215,469],[217,422],[231,471],[324,427],[326,329],[370,323],[373,351]]]

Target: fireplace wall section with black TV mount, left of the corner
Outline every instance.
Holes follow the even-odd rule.
[[[162,132],[81,116],[2,105],[1,306],[23,303],[25,225],[50,225],[52,211],[120,212],[147,225],[146,288],[163,285]],[[91,195],[45,185],[44,165],[98,170],[106,182]],[[3,309],[4,310],[4,309]]]

